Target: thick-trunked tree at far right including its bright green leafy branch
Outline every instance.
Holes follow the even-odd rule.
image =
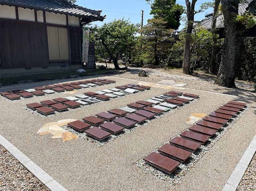
[[[224,16],[225,42],[222,61],[219,67],[216,83],[220,86],[234,88],[237,70],[239,68],[241,35],[246,29],[255,25],[256,0],[249,3],[246,12],[239,15],[239,0],[222,0]]]

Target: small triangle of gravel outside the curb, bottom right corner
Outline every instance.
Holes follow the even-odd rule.
[[[256,154],[245,171],[243,178],[238,186],[238,191],[256,190]]]

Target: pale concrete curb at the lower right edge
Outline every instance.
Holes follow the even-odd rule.
[[[249,166],[254,154],[256,152],[256,136],[253,138],[252,142],[250,143],[249,147],[245,150],[242,158],[240,159],[239,163],[237,164],[235,170],[233,171],[232,175],[229,177],[227,183],[223,187],[222,191],[236,191],[239,183]]]

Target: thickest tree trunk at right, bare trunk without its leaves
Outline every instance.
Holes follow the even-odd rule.
[[[236,22],[239,0],[222,0],[225,25],[225,42],[216,83],[220,86],[234,88],[238,60],[240,56],[241,33],[243,27]]]

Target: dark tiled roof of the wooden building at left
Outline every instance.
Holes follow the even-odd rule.
[[[105,18],[101,16],[102,11],[87,9],[68,0],[0,0],[0,4],[78,16],[90,22],[103,21]]]

